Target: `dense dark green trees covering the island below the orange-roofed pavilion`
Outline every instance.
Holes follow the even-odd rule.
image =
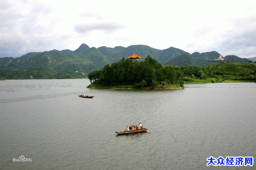
[[[148,55],[145,61],[133,62],[131,59],[123,58],[117,63],[105,65],[100,71],[90,72],[88,78],[92,84],[88,87],[118,85],[128,88],[153,89],[172,85],[178,88],[184,85],[183,77],[184,73],[181,70],[175,70],[175,67],[171,65],[162,66],[156,59]]]

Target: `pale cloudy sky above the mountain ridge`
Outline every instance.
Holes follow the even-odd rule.
[[[148,45],[256,57],[256,1],[0,0],[0,57]]]

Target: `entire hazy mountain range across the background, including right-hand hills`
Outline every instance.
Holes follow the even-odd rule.
[[[155,58],[163,65],[180,65],[186,63],[194,66],[202,66],[210,63],[218,63],[223,60],[228,62],[248,62],[248,59],[242,59],[235,55],[223,57],[216,51],[190,53],[178,48],[170,47],[159,50],[146,45],[131,45],[129,47],[117,46],[114,48],[99,47],[90,48],[86,44],[81,44],[79,48],[72,51],[51,50],[44,52],[30,52],[18,58],[4,57],[0,58],[0,69],[19,70],[27,68],[44,68],[61,72],[78,72],[81,75],[87,75],[93,70],[100,70],[107,64],[120,61],[123,57],[133,55],[141,56],[144,60],[148,55]]]

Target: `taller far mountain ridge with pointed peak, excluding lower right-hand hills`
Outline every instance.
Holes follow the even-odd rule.
[[[0,59],[0,69],[26,69],[26,68],[45,68],[59,71],[78,71],[88,74],[93,70],[99,70],[107,64],[120,61],[123,57],[131,56],[133,53],[141,56],[144,60],[148,55],[153,56],[159,62],[174,58],[181,54],[189,54],[178,48],[168,48],[159,50],[146,45],[132,45],[125,47],[99,47],[90,48],[82,44],[75,51],[51,50],[44,52],[33,52],[18,58],[5,57]]]

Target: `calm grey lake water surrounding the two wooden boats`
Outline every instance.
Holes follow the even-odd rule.
[[[256,169],[256,83],[181,90],[89,84],[0,81],[0,169]],[[139,122],[147,133],[116,135]],[[21,155],[32,161],[13,162]],[[210,156],[251,156],[254,165],[206,166]]]

